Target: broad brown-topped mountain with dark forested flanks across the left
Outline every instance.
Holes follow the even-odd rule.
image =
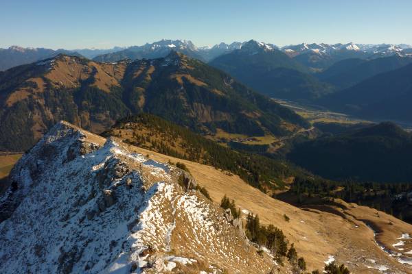
[[[0,73],[0,147],[30,148],[57,121],[100,133],[150,112],[196,132],[284,136],[308,123],[201,61],[172,51],[154,60],[98,63],[59,55]]]

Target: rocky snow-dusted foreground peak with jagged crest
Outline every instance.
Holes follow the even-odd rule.
[[[191,175],[65,122],[0,197],[0,273],[268,273]]]

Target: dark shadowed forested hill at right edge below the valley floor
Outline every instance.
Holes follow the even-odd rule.
[[[302,142],[289,158],[315,174],[362,182],[411,182],[412,136],[393,123]]]

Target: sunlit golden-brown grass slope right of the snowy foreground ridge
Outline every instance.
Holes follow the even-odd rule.
[[[235,199],[240,208],[258,214],[262,223],[281,228],[288,240],[295,243],[299,256],[304,256],[309,270],[323,269],[323,262],[328,259],[328,256],[333,255],[337,262],[345,263],[354,273],[379,273],[376,269],[367,268],[368,259],[374,259],[379,264],[388,266],[393,273],[412,273],[406,266],[387,256],[387,253],[374,242],[371,229],[350,214],[344,213],[345,218],[343,218],[321,210],[302,210],[268,197],[236,175],[227,175],[211,166],[172,158],[146,149],[137,147],[133,149],[144,155],[150,154],[150,158],[159,162],[169,160],[183,162],[198,184],[207,188],[213,201],[219,203],[223,195],[227,195]],[[364,210],[364,207],[358,207],[358,210],[357,214],[370,215],[369,210]],[[289,222],[284,220],[284,214],[290,217]],[[401,231],[412,232],[412,225],[394,221],[394,225],[389,227],[385,225],[388,220],[382,220],[385,220],[380,223],[382,229],[385,229],[382,237],[390,239],[386,242],[393,244],[393,241],[400,237]],[[383,238],[382,242],[384,242]]]

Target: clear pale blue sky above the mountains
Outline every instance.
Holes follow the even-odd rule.
[[[104,49],[161,38],[412,44],[411,0],[0,1],[0,47]]]

